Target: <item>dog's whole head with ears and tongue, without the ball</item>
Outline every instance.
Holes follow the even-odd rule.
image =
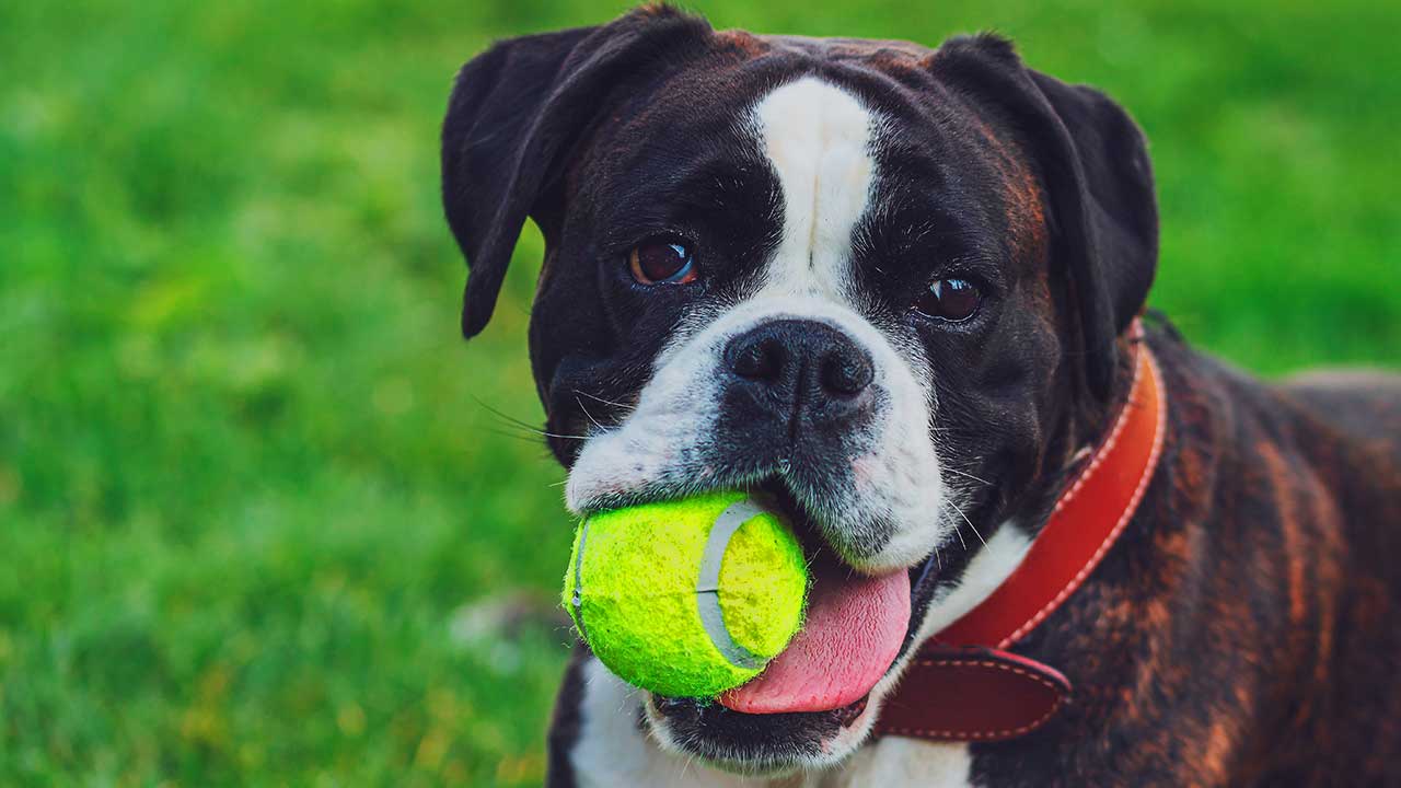
[[[821,690],[644,705],[664,746],[744,770],[848,754],[957,589],[1010,571],[1156,258],[1136,128],[1005,42],[668,10],[468,63],[444,202],[468,335],[525,216],[544,231],[531,355],[570,509],[738,487],[797,526],[810,617],[835,600],[848,632],[792,658]]]

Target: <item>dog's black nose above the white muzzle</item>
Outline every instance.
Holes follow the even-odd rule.
[[[870,353],[813,320],[752,328],[730,341],[724,362],[737,383],[762,390],[769,407],[796,419],[841,415],[876,376]]]

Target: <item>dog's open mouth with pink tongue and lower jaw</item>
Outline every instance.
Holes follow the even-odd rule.
[[[803,628],[764,673],[716,701],[653,695],[649,709],[677,746],[744,770],[771,764],[778,753],[821,759],[838,735],[860,728],[871,690],[913,641],[913,613],[927,603],[929,585],[923,564],[880,576],[852,569],[780,481],[751,492],[804,545],[813,585]]]

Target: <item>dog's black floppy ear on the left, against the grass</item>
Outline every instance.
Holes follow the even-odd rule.
[[[562,175],[611,90],[693,50],[705,20],[647,6],[601,27],[502,41],[468,60],[443,121],[443,209],[471,273],[462,335],[496,307],[525,217],[558,237]]]

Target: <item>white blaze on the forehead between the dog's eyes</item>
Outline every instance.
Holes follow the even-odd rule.
[[[783,191],[783,240],[764,290],[842,301],[852,230],[871,193],[874,118],[845,90],[804,77],[768,94],[754,119]]]

